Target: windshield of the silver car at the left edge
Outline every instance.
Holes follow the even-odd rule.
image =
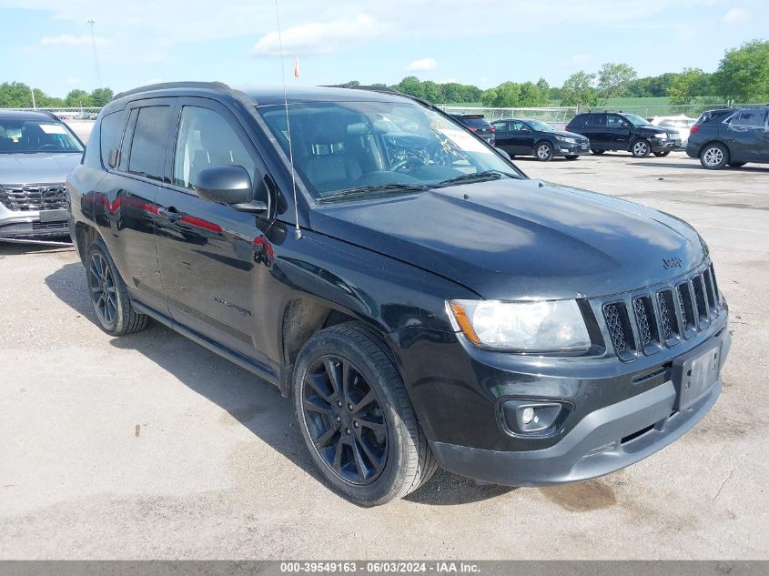
[[[83,152],[77,138],[56,120],[0,117],[0,154]]]

